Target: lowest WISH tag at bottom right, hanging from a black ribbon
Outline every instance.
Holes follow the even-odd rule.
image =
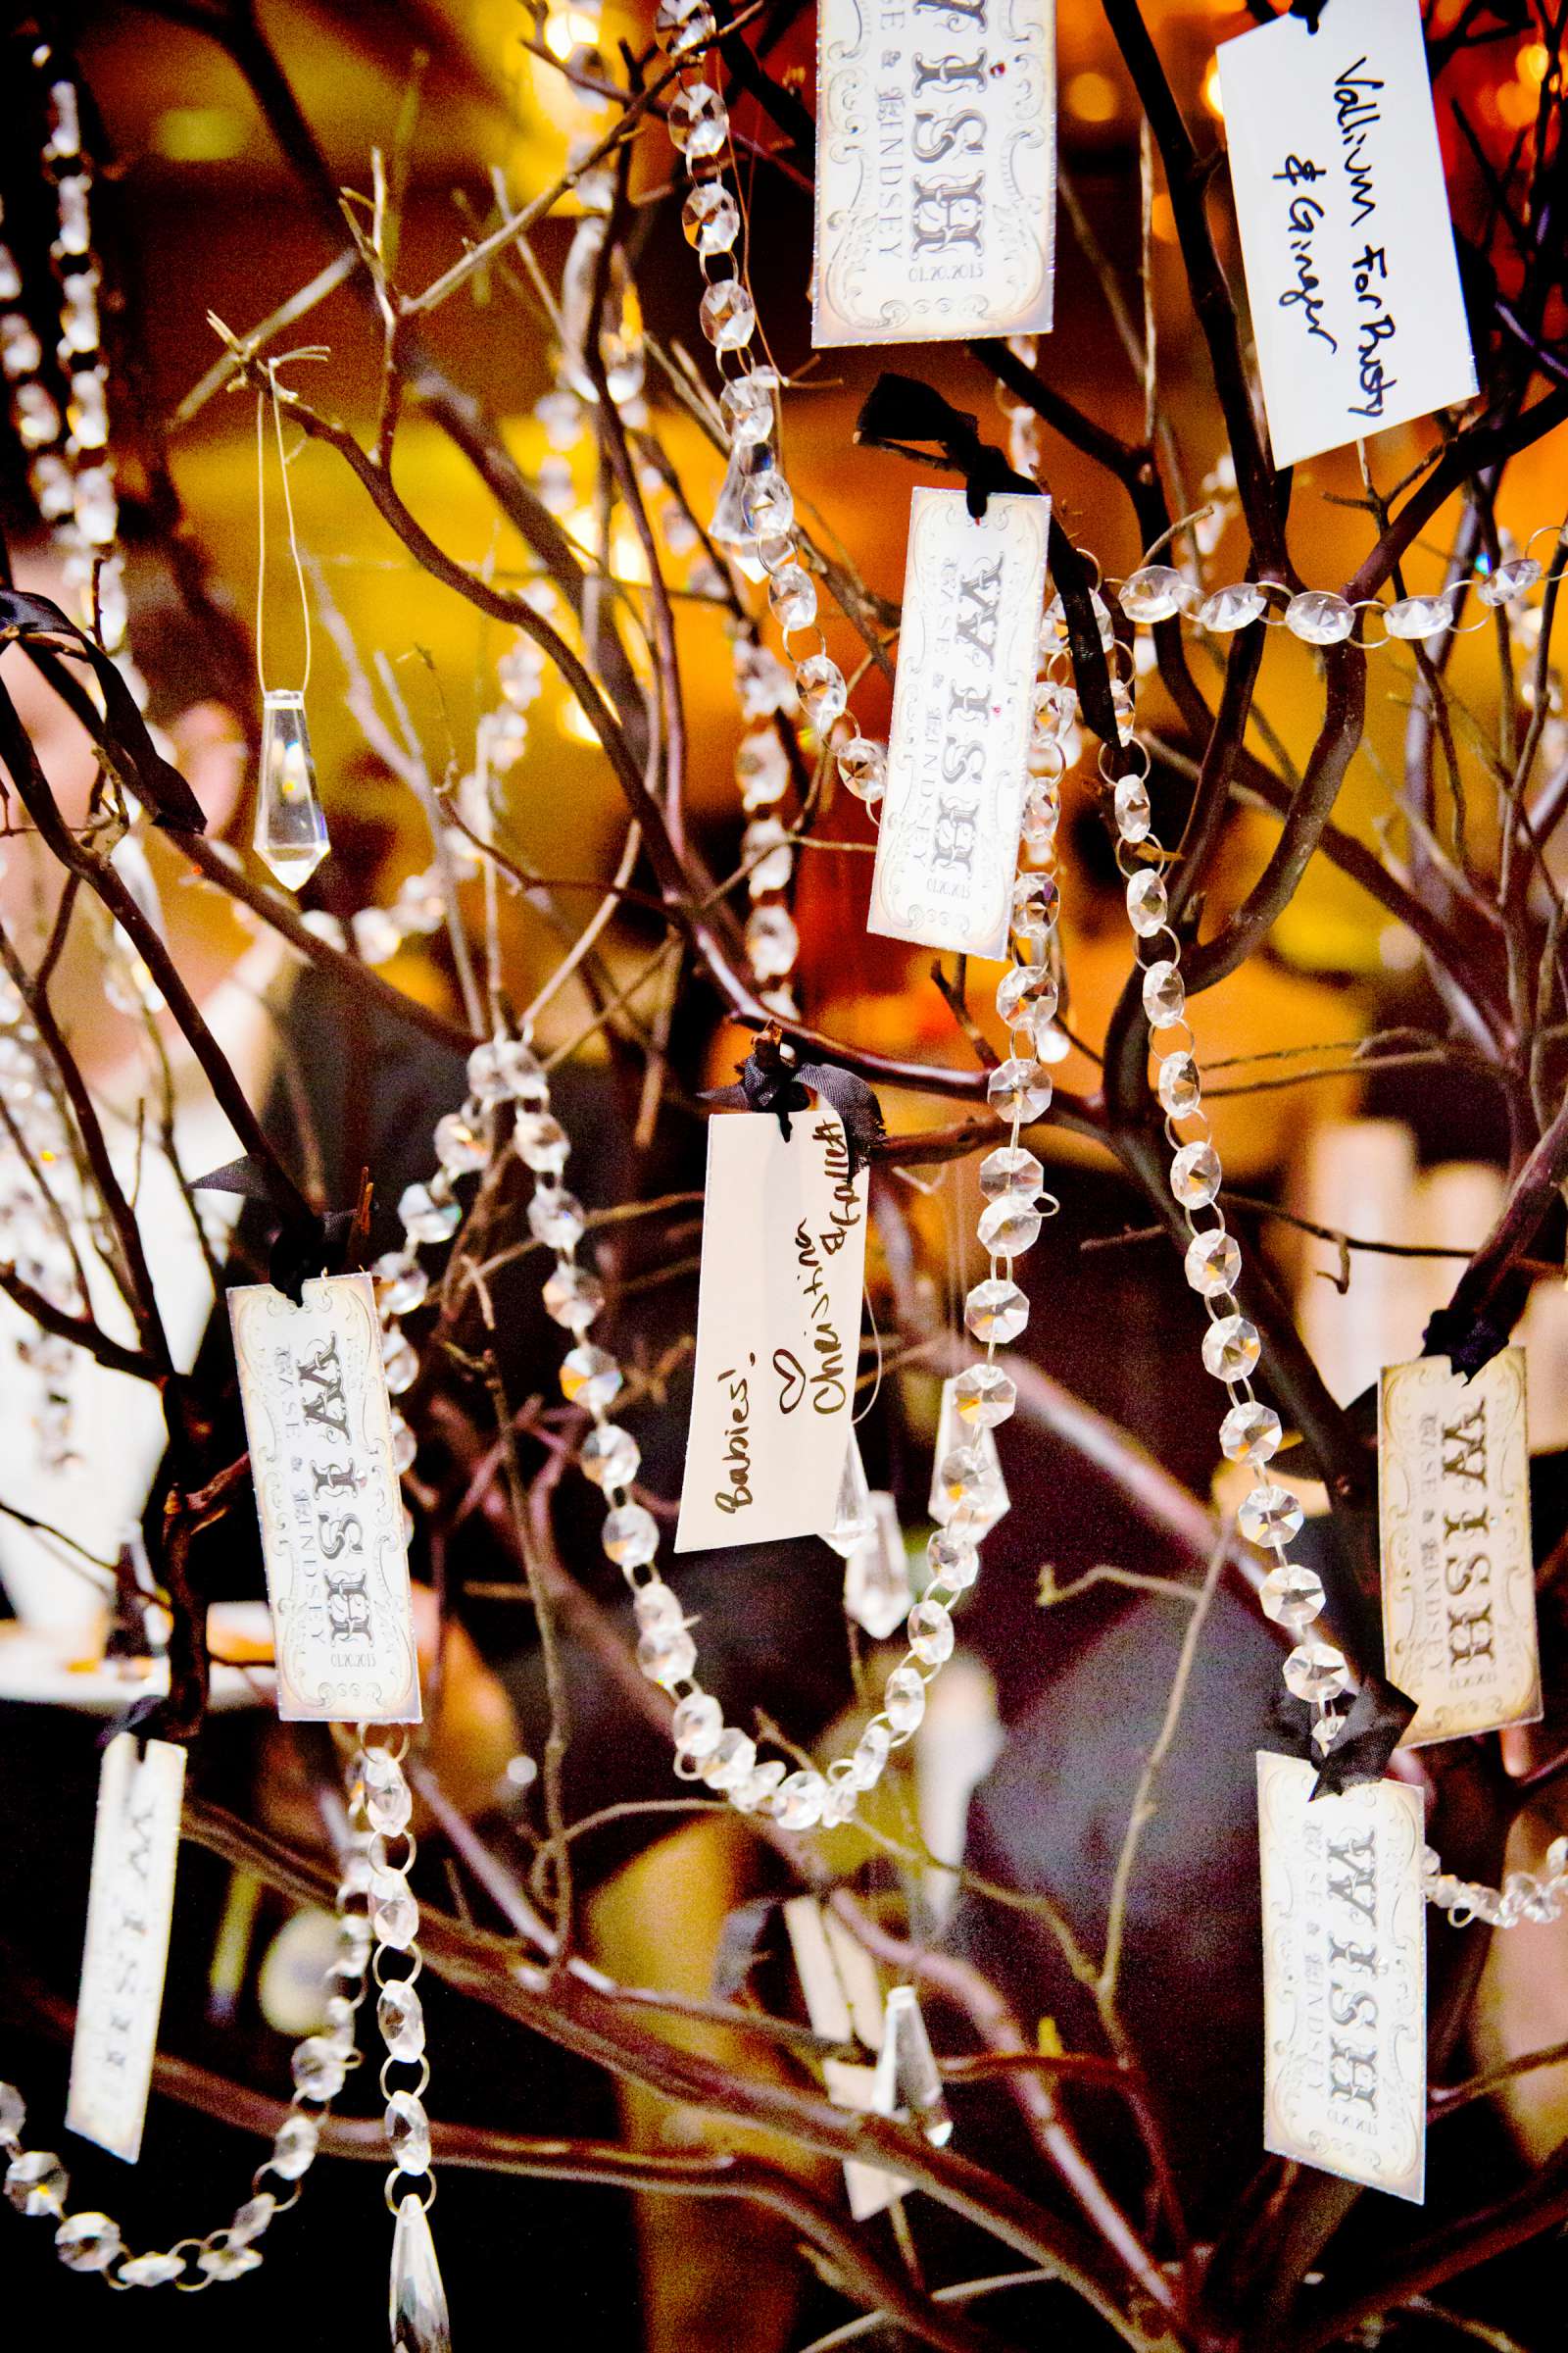
[[[1420,2205],[1427,1908],[1420,1791],[1312,1800],[1302,1758],[1258,1755],[1262,2144]]]

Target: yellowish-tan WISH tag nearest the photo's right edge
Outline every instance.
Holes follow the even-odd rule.
[[[1474,1381],[1446,1355],[1382,1374],[1382,1647],[1418,1701],[1403,1746],[1540,1718],[1523,1348]]]

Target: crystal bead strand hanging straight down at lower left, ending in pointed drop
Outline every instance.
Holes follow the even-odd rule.
[[[386,2059],[381,2061],[381,2097],[386,2099],[386,2139],[393,2169],[386,2177],[386,2202],[397,2217],[393,2233],[390,2329],[395,2353],[449,2353],[447,2292],[442,2287],[428,2212],[435,2200],[430,2172],[430,2118],[425,2115],[425,2012],[418,2000],[418,1899],[409,1889],[414,1868],[414,1795],[395,1748],[367,1744],[360,1725],[360,1755],[348,1777],[350,1821],[369,1833],[371,1934],[376,1951],[371,1974],[378,1986],[376,2024]],[[402,1854],[390,1859],[388,1842]],[[407,1962],[407,1967],[393,1967]],[[414,2082],[402,2078],[411,2071]]]

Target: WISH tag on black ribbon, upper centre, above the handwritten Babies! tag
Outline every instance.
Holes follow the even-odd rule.
[[[867,929],[1004,955],[1027,788],[1051,501],[917,489]]]

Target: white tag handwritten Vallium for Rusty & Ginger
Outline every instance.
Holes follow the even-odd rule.
[[[1274,464],[1469,400],[1418,0],[1241,33],[1220,96]]]

